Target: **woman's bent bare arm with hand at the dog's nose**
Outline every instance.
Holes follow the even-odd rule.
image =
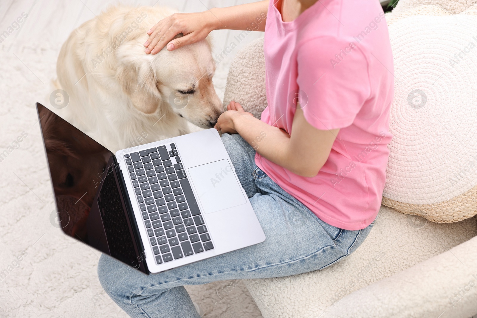
[[[298,108],[291,135],[245,113],[239,103],[231,102],[220,115],[216,128],[222,133],[239,133],[256,152],[294,174],[313,177],[328,160],[339,129],[319,130],[309,124]]]

